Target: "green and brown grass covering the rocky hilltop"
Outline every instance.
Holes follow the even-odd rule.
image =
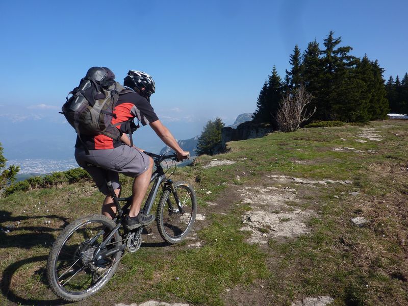
[[[377,129],[384,140],[355,141],[362,139],[358,135],[366,127]],[[155,299],[195,305],[257,300],[291,305],[319,295],[335,298],[336,305],[408,304],[406,135],[408,122],[398,120],[319,127],[232,142],[230,152],[217,159],[235,164],[203,169],[213,157],[199,157],[193,166],[177,169],[172,179],[187,181],[196,190],[198,213],[206,215],[195,227],[202,246],[190,247],[194,241],[189,240],[163,246],[159,237],[143,235],[141,249],[125,255],[104,290],[76,304]],[[334,150],[345,147],[362,152]],[[265,177],[271,174],[352,184],[268,183]],[[129,194],[132,180],[121,180],[123,194]],[[242,215],[253,207],[243,203],[236,190],[266,184],[296,189],[297,200],[288,201],[286,210],[313,211],[306,222],[310,234],[269,236],[267,245],[247,243],[249,233],[240,231]],[[350,194],[355,191],[359,193]],[[0,226],[15,226],[10,233],[0,232],[0,305],[61,303],[44,278],[49,247],[68,222],[98,212],[103,198],[92,183],[75,183],[16,191],[0,199]],[[350,219],[356,216],[370,222],[354,226]],[[272,233],[267,227],[259,231]],[[227,290],[234,294],[226,295]],[[239,297],[247,300],[240,303]]]

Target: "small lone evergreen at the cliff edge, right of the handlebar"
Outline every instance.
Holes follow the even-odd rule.
[[[196,155],[214,155],[221,151],[221,130],[224,127],[221,118],[209,120],[198,138]]]

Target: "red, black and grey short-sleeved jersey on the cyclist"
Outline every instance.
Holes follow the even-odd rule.
[[[142,125],[159,120],[147,99],[139,95],[137,92],[129,92],[119,95],[119,99],[113,113],[116,115],[116,118],[112,118],[112,124],[126,122],[134,118],[137,118]],[[116,126],[108,126],[107,132],[117,135],[116,139],[112,139],[111,137],[103,134],[97,136],[87,136],[81,134],[81,139],[89,150],[113,149],[122,144],[120,141],[120,136],[123,133],[129,133],[129,131],[126,131],[126,126],[127,125],[124,123],[117,124]],[[77,137],[75,147],[81,146],[83,146],[82,142],[79,137]]]

